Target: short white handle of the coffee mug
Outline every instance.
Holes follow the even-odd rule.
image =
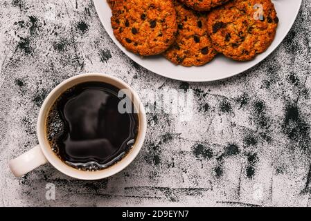
[[[30,151],[10,160],[9,166],[15,177],[22,177],[24,174],[33,171],[38,166],[46,164],[47,162],[48,160],[46,160],[40,146],[37,145]]]

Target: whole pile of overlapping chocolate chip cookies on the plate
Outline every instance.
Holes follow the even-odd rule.
[[[271,0],[108,0],[120,43],[138,55],[163,54],[202,66],[217,53],[254,59],[270,46],[278,17]]]

